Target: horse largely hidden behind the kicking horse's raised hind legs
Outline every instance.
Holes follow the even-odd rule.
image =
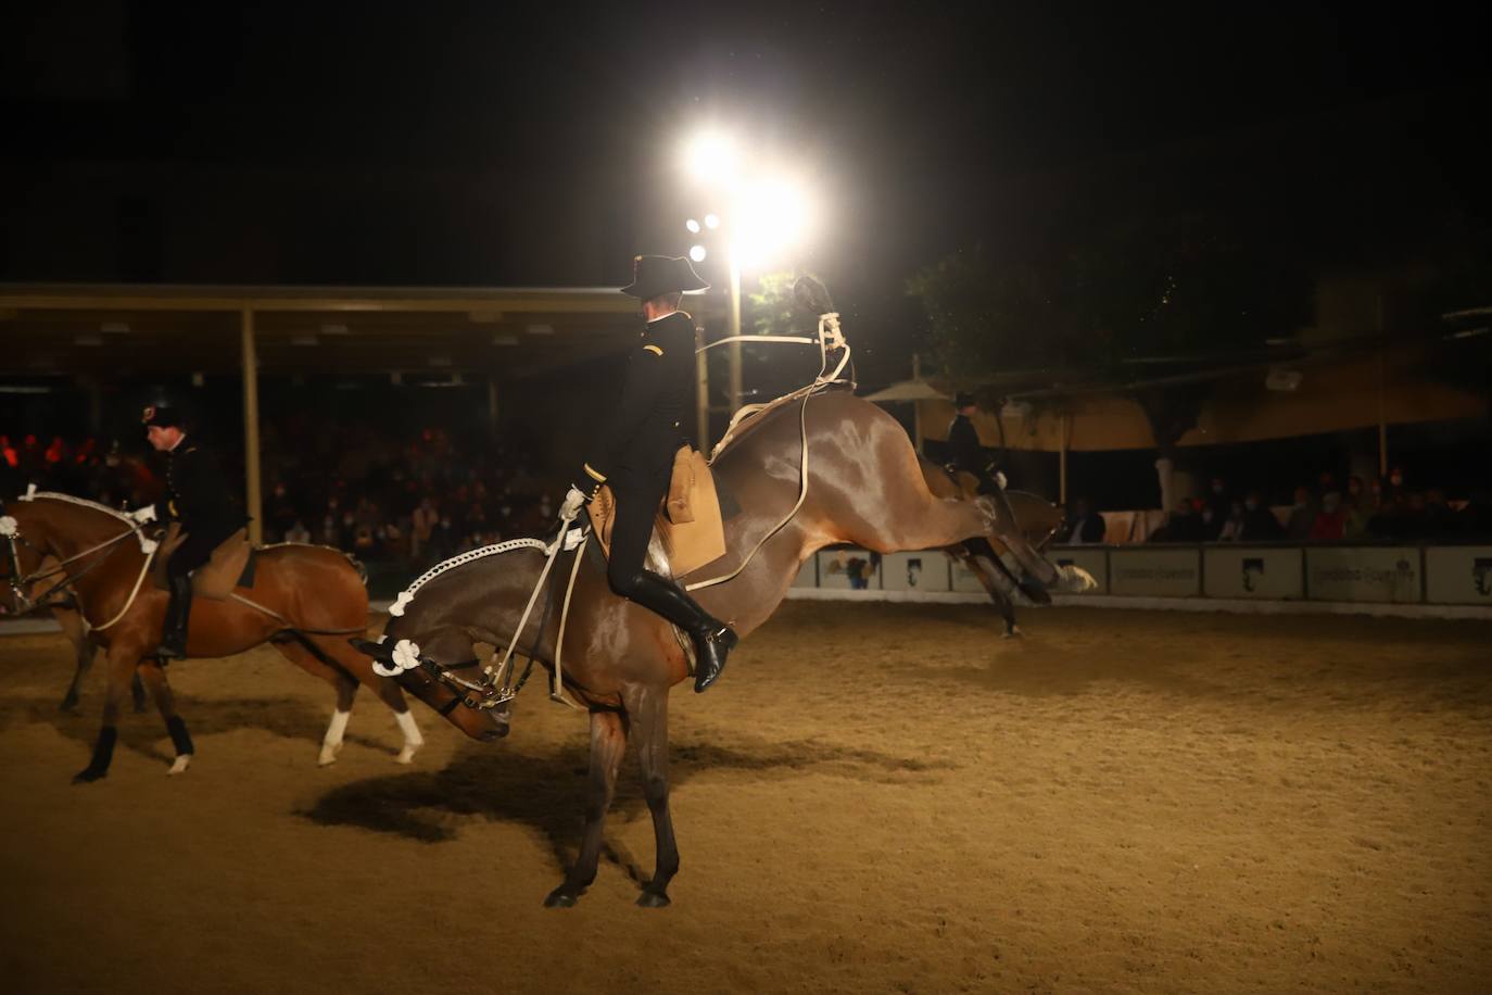
[[[919,464],[922,467],[922,479],[927,482],[932,497],[971,501],[979,495],[979,479],[974,474],[953,473],[927,456],[921,456]],[[1061,506],[1052,504],[1046,498],[1028,491],[1006,491],[1004,494],[1006,501],[1010,504],[1010,512],[1021,527],[1021,534],[1025,536],[1032,549],[1037,552],[1044,550],[1052,536],[1062,527],[1064,515]],[[943,552],[947,553],[949,559],[964,564],[979,580],[980,586],[985,588],[985,592],[994,601],[995,610],[1000,612],[1000,618],[1006,624],[1006,638],[1021,634],[1021,630],[1016,627],[1015,606],[1018,603],[1049,604],[1052,600],[1046,591],[1022,585],[1022,577],[1013,576],[1006,568],[1000,559],[1000,553],[1004,552],[1004,543],[998,540],[970,539],[949,546]]]

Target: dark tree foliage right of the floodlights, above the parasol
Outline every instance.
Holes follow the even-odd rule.
[[[1195,424],[1207,391],[1143,380],[1217,365],[1310,318],[1310,283],[1286,252],[1201,216],[1131,221],[1038,263],[958,252],[924,269],[910,292],[955,379],[1131,388],[1162,449]]]

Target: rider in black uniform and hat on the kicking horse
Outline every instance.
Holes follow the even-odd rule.
[[[712,618],[677,583],[643,568],[653,516],[668,492],[673,458],[683,442],[685,412],[694,392],[694,321],[679,310],[685,292],[709,289],[689,261],[640,255],[633,282],[622,288],[642,301],[648,325],[627,357],[622,397],[609,412],[600,442],[580,473],[585,489],[570,485],[561,515],[573,516],[607,485],[616,498],[612,527],[612,591],[668,619],[694,638],[694,689],[719,677],[736,646],[734,630]]]

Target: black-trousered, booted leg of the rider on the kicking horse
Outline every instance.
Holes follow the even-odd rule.
[[[736,646],[737,635],[677,583],[643,568],[661,498],[662,488],[637,486],[616,492],[616,522],[612,525],[612,558],[606,579],[612,591],[661,615],[694,638],[694,689],[704,691],[725,668],[725,656]]]

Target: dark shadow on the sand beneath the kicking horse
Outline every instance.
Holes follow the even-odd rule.
[[[466,747],[443,770],[342,785],[298,814],[319,825],[360,826],[430,844],[454,840],[473,817],[518,823],[543,835],[564,868],[574,859],[583,829],[588,764],[586,741],[545,753]],[[783,779],[810,770],[862,782],[922,783],[952,767],[822,740],[737,740],[728,746],[685,740],[670,744],[668,785],[677,791],[694,777],[716,771]],[[628,747],[607,822],[648,817],[637,761]],[[606,858],[645,885],[648,873],[642,864],[612,834],[607,837]]]

